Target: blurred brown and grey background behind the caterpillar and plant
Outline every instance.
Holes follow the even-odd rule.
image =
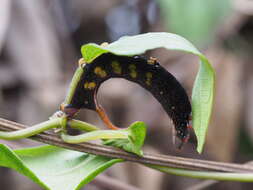
[[[106,81],[99,101],[112,121],[127,127],[145,121],[144,150],[198,159],[244,163],[253,158],[253,1],[251,0],[1,0],[0,117],[33,125],[50,117],[64,100],[81,57],[81,45],[112,42],[124,35],[173,32],[208,57],[217,72],[214,111],[204,153],[194,135],[182,151],[172,144],[171,122],[161,105],[140,86]],[[191,94],[198,60],[162,49],[148,52]],[[97,114],[78,118],[104,128]],[[1,143],[35,146],[31,140]],[[200,189],[203,181],[165,175],[140,165],[115,165],[106,175],[142,190]],[[25,177],[0,168],[0,187],[40,189]],[[203,186],[204,187],[204,186]],[[202,189],[252,189],[250,183],[220,182]],[[107,190],[91,183],[85,190]]]

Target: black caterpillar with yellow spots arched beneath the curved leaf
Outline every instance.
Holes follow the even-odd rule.
[[[187,93],[177,79],[154,58],[105,53],[92,63],[79,64],[66,99],[61,104],[61,111],[67,117],[73,117],[80,109],[94,110],[109,128],[118,129],[97,101],[100,85],[110,78],[124,78],[148,90],[172,119],[181,144],[188,141],[191,104]]]

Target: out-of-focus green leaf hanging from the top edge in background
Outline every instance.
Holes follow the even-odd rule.
[[[158,5],[168,31],[200,46],[214,38],[218,26],[231,12],[230,0],[158,0]]]

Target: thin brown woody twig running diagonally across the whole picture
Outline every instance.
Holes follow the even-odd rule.
[[[2,131],[15,131],[24,128],[27,128],[27,126],[0,118],[0,130]],[[76,150],[79,152],[86,152],[111,158],[121,158],[126,161],[138,162],[142,164],[153,164],[198,171],[253,173],[252,165],[205,161],[169,155],[152,155],[147,153],[144,153],[143,157],[138,157],[120,149],[94,143],[68,144],[63,142],[58,135],[46,132],[32,136],[30,138],[39,142],[59,146],[70,150]]]

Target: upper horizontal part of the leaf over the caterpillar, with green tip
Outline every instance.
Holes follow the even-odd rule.
[[[107,52],[111,52],[116,55],[133,56],[143,54],[148,50],[156,48],[185,51],[196,55],[201,54],[189,41],[183,37],[166,32],[124,36],[106,47],[89,43],[82,46],[81,52],[85,62],[91,63],[98,56]],[[92,51],[92,49],[94,49],[94,51]]]

